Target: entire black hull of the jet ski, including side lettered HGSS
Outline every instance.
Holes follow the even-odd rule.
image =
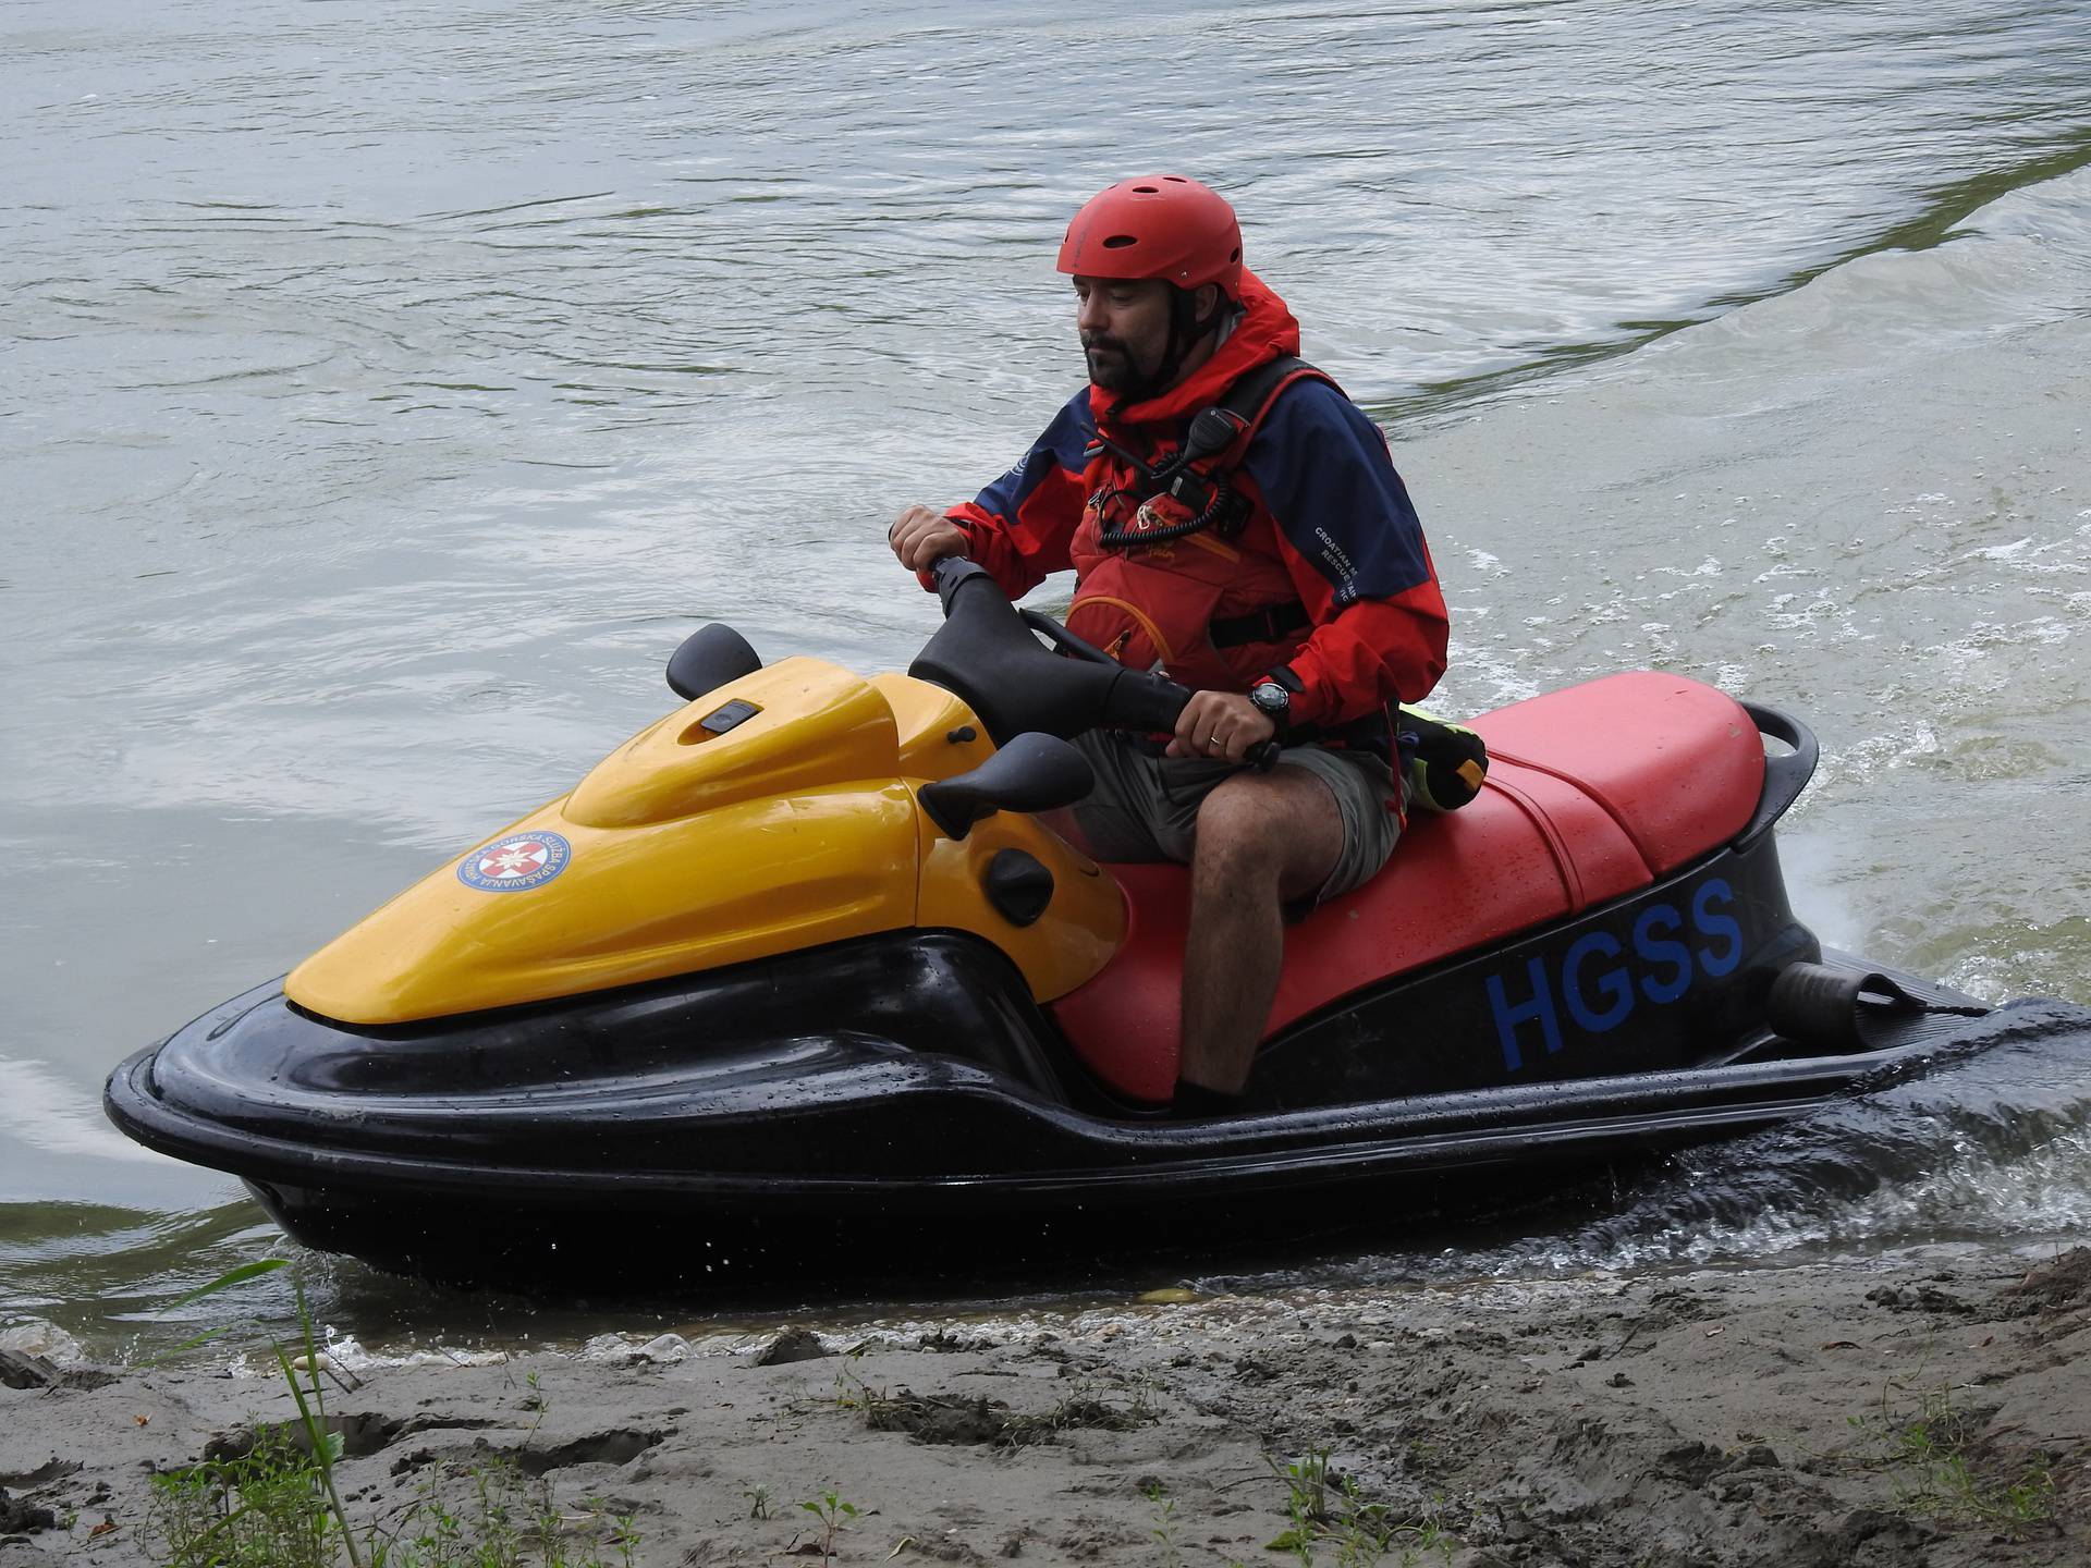
[[[1694,958],[1646,939],[1677,935],[1650,924],[1658,907],[1708,912],[1690,983]],[[468,1282],[671,1279],[751,1238],[832,1265],[815,1236],[964,1233],[968,1263],[989,1238],[1029,1254],[1296,1236],[1531,1202],[2041,1016],[1771,1033],[1773,974],[1819,955],[1763,834],[1303,1020],[1265,1050],[1250,1112],[1223,1121],[1115,1102],[1008,960],[956,932],[427,1027],[347,1029],[259,987],[123,1062],[107,1108],[138,1142],[243,1177],[307,1246]]]

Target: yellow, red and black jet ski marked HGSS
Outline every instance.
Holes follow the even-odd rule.
[[[2009,1033],[1794,916],[1800,721],[1631,671],[1476,719],[1474,799],[1288,928],[1242,1114],[1173,1116],[1188,872],[1039,813],[1092,786],[1071,736],[1190,694],[970,562],[937,587],[905,675],[700,629],[680,709],[125,1060],[109,1116],[305,1246],[600,1284],[813,1221],[1221,1236],[1543,1194]]]

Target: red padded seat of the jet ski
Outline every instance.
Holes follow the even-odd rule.
[[[1349,991],[1648,886],[1733,838],[1765,748],[1731,696],[1631,671],[1476,719],[1489,782],[1451,815],[1416,813],[1386,870],[1286,930],[1263,1035]],[[1081,1060],[1133,1100],[1175,1089],[1190,872],[1112,866],[1125,945],[1052,1014]]]

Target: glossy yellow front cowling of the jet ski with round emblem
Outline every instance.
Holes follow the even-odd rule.
[[[705,728],[721,711],[736,721]],[[1117,951],[1123,897],[1029,817],[989,817],[968,843],[935,834],[914,784],[991,751],[947,740],[958,721],[979,728],[947,692],[905,677],[872,684],[818,659],[755,671],[422,878],[297,966],[284,991],[326,1018],[401,1024],[935,924],[997,943],[1041,1001],[1064,995]],[[1056,882],[1048,914],[1022,928],[979,884],[1010,847]]]

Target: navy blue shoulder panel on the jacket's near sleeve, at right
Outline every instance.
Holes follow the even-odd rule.
[[[1422,523],[1380,426],[1326,381],[1278,393],[1242,466],[1338,606],[1430,581]]]

